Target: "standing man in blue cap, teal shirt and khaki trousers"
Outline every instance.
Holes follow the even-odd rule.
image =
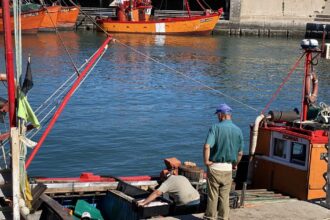
[[[203,152],[208,187],[204,219],[227,220],[232,171],[243,156],[244,141],[241,129],[231,120],[232,109],[228,105],[219,105],[215,114],[219,123],[210,128]]]

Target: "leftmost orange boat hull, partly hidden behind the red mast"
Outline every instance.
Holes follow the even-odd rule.
[[[37,33],[42,20],[45,17],[45,11],[31,11],[21,14],[22,33]],[[11,30],[14,31],[14,17],[10,17]],[[3,32],[2,15],[0,19],[0,32]]]

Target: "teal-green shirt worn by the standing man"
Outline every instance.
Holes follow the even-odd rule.
[[[214,124],[207,135],[205,144],[210,145],[210,161],[236,163],[237,154],[243,151],[243,134],[231,120]]]

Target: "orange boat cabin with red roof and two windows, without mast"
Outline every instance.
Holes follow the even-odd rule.
[[[258,135],[253,188],[303,200],[325,198],[327,131],[264,125]]]

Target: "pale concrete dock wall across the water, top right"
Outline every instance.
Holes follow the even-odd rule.
[[[231,0],[229,20],[219,21],[214,33],[300,37],[326,9],[327,0]]]

